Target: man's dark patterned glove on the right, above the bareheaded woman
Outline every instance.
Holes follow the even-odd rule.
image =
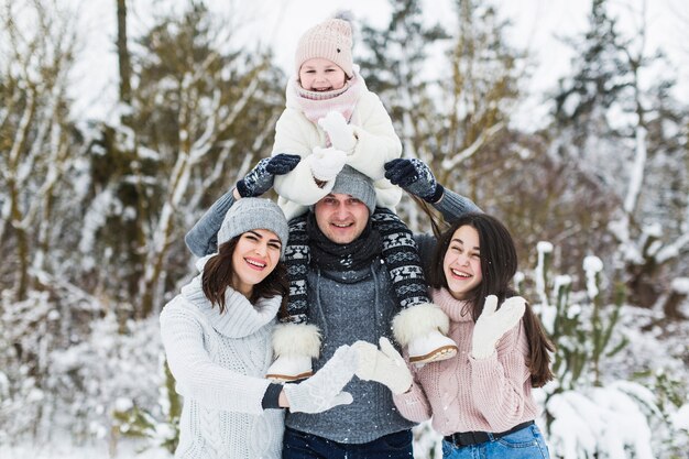
[[[427,203],[437,203],[445,188],[436,182],[430,167],[420,160],[412,157],[392,160],[384,165],[385,178],[398,185],[405,192],[418,196]]]

